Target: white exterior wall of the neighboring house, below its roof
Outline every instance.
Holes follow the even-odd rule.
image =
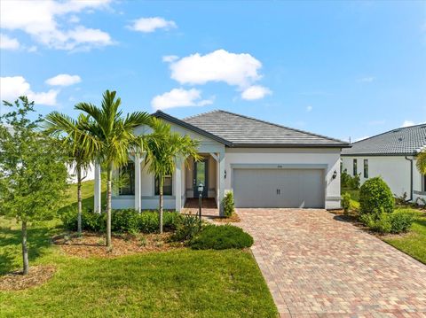
[[[415,167],[415,158],[413,162],[413,198],[425,198],[426,191],[422,184],[422,176]],[[364,177],[364,159],[368,159],[368,177],[381,176],[386,182],[392,193],[400,197],[407,194],[410,198],[411,191],[411,164],[405,156],[357,156],[342,157],[343,170],[347,169],[349,175],[353,175],[353,159],[358,159],[358,173],[360,173],[361,184],[367,181]]]

